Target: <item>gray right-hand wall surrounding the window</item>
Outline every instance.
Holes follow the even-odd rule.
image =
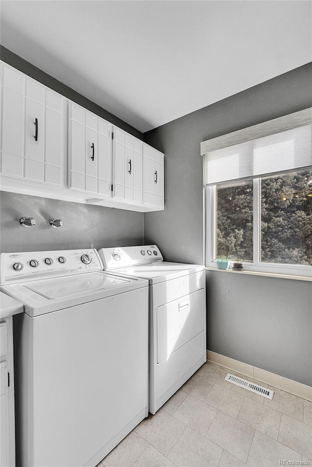
[[[311,83],[309,63],[144,133],[165,153],[165,211],[144,214],[145,244],[202,264],[200,142],[312,106]],[[207,272],[207,348],[312,385],[311,305],[309,282]]]

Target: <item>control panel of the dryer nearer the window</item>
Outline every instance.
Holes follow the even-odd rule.
[[[104,264],[104,269],[163,261],[156,245],[101,248],[98,253]]]

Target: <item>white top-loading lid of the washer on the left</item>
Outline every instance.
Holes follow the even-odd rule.
[[[46,299],[63,299],[77,294],[86,294],[106,287],[129,284],[130,280],[101,274],[86,274],[62,279],[40,280],[24,285]]]

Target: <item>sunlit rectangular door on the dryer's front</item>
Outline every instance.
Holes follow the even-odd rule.
[[[204,289],[157,308],[157,363],[161,363],[205,328]]]

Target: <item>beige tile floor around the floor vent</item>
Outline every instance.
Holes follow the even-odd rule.
[[[98,467],[312,467],[312,402],[276,388],[271,401],[224,381],[228,372],[205,363]]]

